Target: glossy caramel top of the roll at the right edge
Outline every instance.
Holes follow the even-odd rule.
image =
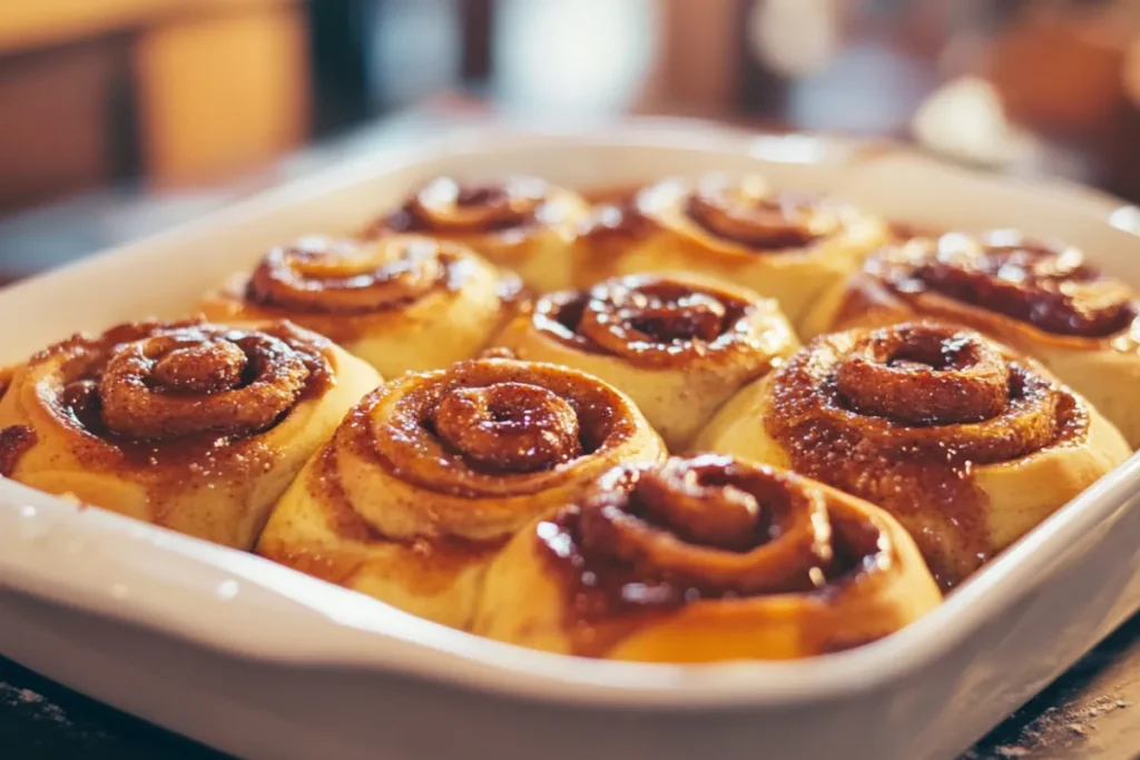
[[[1057,335],[1114,335],[1138,313],[1131,288],[1101,276],[1081,251],[1008,230],[915,238],[872,256],[866,271],[903,297],[929,291]]]

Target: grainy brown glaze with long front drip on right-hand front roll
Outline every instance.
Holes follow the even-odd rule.
[[[942,515],[980,564],[987,499],[974,469],[1082,440],[1089,419],[1036,365],[977,333],[904,324],[813,341],[773,375],[763,424],[797,472],[904,525],[926,510]],[[911,532],[930,563],[944,539]],[[944,588],[964,577],[930,569]]]

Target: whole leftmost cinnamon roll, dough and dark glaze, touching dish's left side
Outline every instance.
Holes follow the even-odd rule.
[[[275,322],[138,322],[32,357],[0,402],[0,474],[226,546],[380,382]]]

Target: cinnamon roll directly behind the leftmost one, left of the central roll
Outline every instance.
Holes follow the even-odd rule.
[[[201,310],[219,321],[290,319],[392,377],[474,356],[514,313],[520,288],[457,243],[309,237],[270,251]]]

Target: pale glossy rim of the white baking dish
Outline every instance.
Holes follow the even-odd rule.
[[[229,227],[275,210],[279,213],[282,207],[425,160],[446,161],[471,152],[511,153],[547,144],[564,147],[568,141],[576,148],[715,147],[718,154],[743,149],[750,155],[763,149],[768,153],[760,157],[768,161],[779,161],[779,150],[783,149],[790,163],[862,160],[857,158],[861,150],[869,146],[881,150],[883,145],[808,134],[725,132],[718,126],[669,120],[587,130],[475,128],[467,134],[445,136],[414,149],[385,149],[370,158],[268,190],[199,220],[2,289],[0,299],[16,291],[44,287],[60,271],[80,276],[112,258],[137,255],[160,240],[198,229]],[[1133,206],[1080,186],[988,175],[893,144],[889,152],[999,186],[1065,198],[1074,204],[1074,213],[1093,214],[1108,226],[1121,228],[1119,219],[1134,223],[1130,219],[1137,211]],[[1132,227],[1123,228],[1134,231]],[[1086,534],[1127,508],[1137,482],[1140,453],[1037,525],[936,610],[905,629],[856,649],[791,662],[668,665],[534,652],[437,626],[253,555],[100,509],[76,507],[10,481],[0,482],[0,528],[10,529],[0,530],[0,589],[270,664],[357,669],[372,676],[394,671],[481,692],[579,706],[700,710],[789,705],[865,694],[918,676],[929,663],[963,644],[986,619],[1032,593],[1036,579],[1065,555],[1074,537]],[[48,540],[43,540],[46,537]],[[119,550],[91,551],[91,537],[103,545],[100,549]],[[58,547],[51,549],[55,555],[34,551],[35,545],[43,549],[44,542],[66,546],[70,540],[87,545],[72,555],[91,557],[98,565],[92,572],[76,573],[74,566],[68,572],[67,563],[58,562]],[[51,562],[52,556],[56,562]],[[195,583],[171,585],[137,577],[132,565],[147,557],[165,558],[168,564],[177,557],[174,564],[195,575]],[[128,594],[116,593],[124,583],[121,578],[130,578],[133,583]],[[218,593],[235,581],[242,590],[236,597]],[[234,598],[247,595],[260,597],[255,610],[233,604]],[[182,605],[190,602],[195,607],[187,612]],[[280,607],[274,613],[277,618],[269,621],[272,624],[264,623],[267,604]],[[292,623],[283,624],[288,615]],[[393,626],[400,630],[393,630]],[[275,627],[276,632],[270,630]],[[279,629],[285,628],[291,632],[282,636]],[[384,644],[378,645],[381,641]]]

